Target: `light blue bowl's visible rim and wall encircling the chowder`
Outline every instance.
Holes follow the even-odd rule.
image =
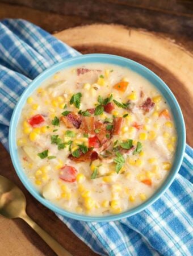
[[[145,77],[145,79],[152,82],[152,84],[156,86],[158,90],[160,90],[160,93],[163,95],[163,97],[165,97],[167,103],[170,105],[171,112],[173,113],[173,116],[174,116],[175,126],[177,127],[177,135],[178,135],[177,150],[175,152],[173,167],[171,168],[171,171],[167,176],[167,179],[161,185],[161,187],[156,191],[156,193],[154,193],[154,195],[144,203],[140,204],[139,206],[131,210],[127,210],[127,212],[105,216],[105,217],[104,216],[90,217],[90,216],[83,216],[83,215],[67,212],[66,210],[61,209],[60,207],[57,207],[56,205],[52,204],[50,201],[44,199],[39,194],[39,192],[36,191],[35,187],[33,187],[32,183],[30,182],[30,180],[28,180],[28,177],[24,173],[23,168],[20,164],[18,150],[16,146],[16,127],[18,125],[18,120],[19,120],[22,108],[26,103],[26,99],[30,96],[30,94],[36,88],[38,88],[42,82],[48,79],[48,77],[53,76],[54,73],[61,71],[61,69],[69,68],[74,65],[82,65],[85,63],[96,63],[96,62],[116,64],[116,65],[120,65],[121,67],[132,69],[132,71],[139,73],[141,76]],[[36,79],[31,82],[31,84],[28,86],[28,88],[23,92],[22,96],[20,97],[18,104],[14,109],[14,113],[12,114],[10,130],[9,130],[9,147],[10,147],[12,163],[14,164],[16,173],[18,174],[20,180],[22,181],[24,186],[27,188],[27,190],[41,204],[53,210],[53,212],[59,213],[62,216],[66,216],[69,218],[74,218],[75,220],[82,220],[82,221],[115,221],[121,218],[129,217],[133,214],[139,213],[141,212],[141,210],[144,210],[150,204],[153,204],[173,182],[175,175],[177,174],[182,163],[185,143],[186,143],[186,130],[184,125],[183,115],[178,105],[178,102],[174,97],[174,94],[167,87],[165,82],[163,82],[160,79],[160,77],[155,75],[148,68],[145,68],[143,65],[136,63],[133,60],[129,60],[124,57],[119,57],[115,55],[107,55],[107,54],[88,54],[88,55],[74,57],[72,59],[67,59],[65,61],[62,61],[61,63],[53,65],[53,67],[47,69],[46,71],[41,73],[39,76],[37,76]]]

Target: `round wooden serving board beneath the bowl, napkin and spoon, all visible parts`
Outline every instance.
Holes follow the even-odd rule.
[[[173,91],[186,121],[187,142],[193,146],[193,57],[170,39],[143,30],[94,24],[55,34],[82,53],[111,53],[136,60],[154,71]],[[73,255],[96,255],[55,216],[26,191],[15,174],[9,154],[0,144],[0,174],[22,188],[28,214]],[[22,220],[0,217],[0,251],[4,256],[55,255]]]

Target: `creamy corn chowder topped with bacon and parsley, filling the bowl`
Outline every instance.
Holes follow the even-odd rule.
[[[40,194],[91,216],[152,196],[169,174],[176,139],[169,105],[148,80],[99,63],[45,81],[17,129],[20,161]]]

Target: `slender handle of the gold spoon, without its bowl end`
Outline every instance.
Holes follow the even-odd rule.
[[[52,248],[52,250],[58,256],[72,256],[72,254],[66,251],[64,247],[60,245],[60,243],[58,243],[56,240],[53,239],[53,237],[51,237],[47,232],[40,228],[40,226],[37,225],[36,222],[33,221],[27,214],[24,214],[20,217],[23,218],[23,220],[26,221],[27,224],[30,225],[37,234],[39,234],[39,236],[49,245],[49,247]]]

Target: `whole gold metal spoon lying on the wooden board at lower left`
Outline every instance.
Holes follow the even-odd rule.
[[[6,218],[23,218],[59,256],[72,256],[60,243],[40,228],[26,213],[26,197],[12,181],[0,175],[0,214]]]

